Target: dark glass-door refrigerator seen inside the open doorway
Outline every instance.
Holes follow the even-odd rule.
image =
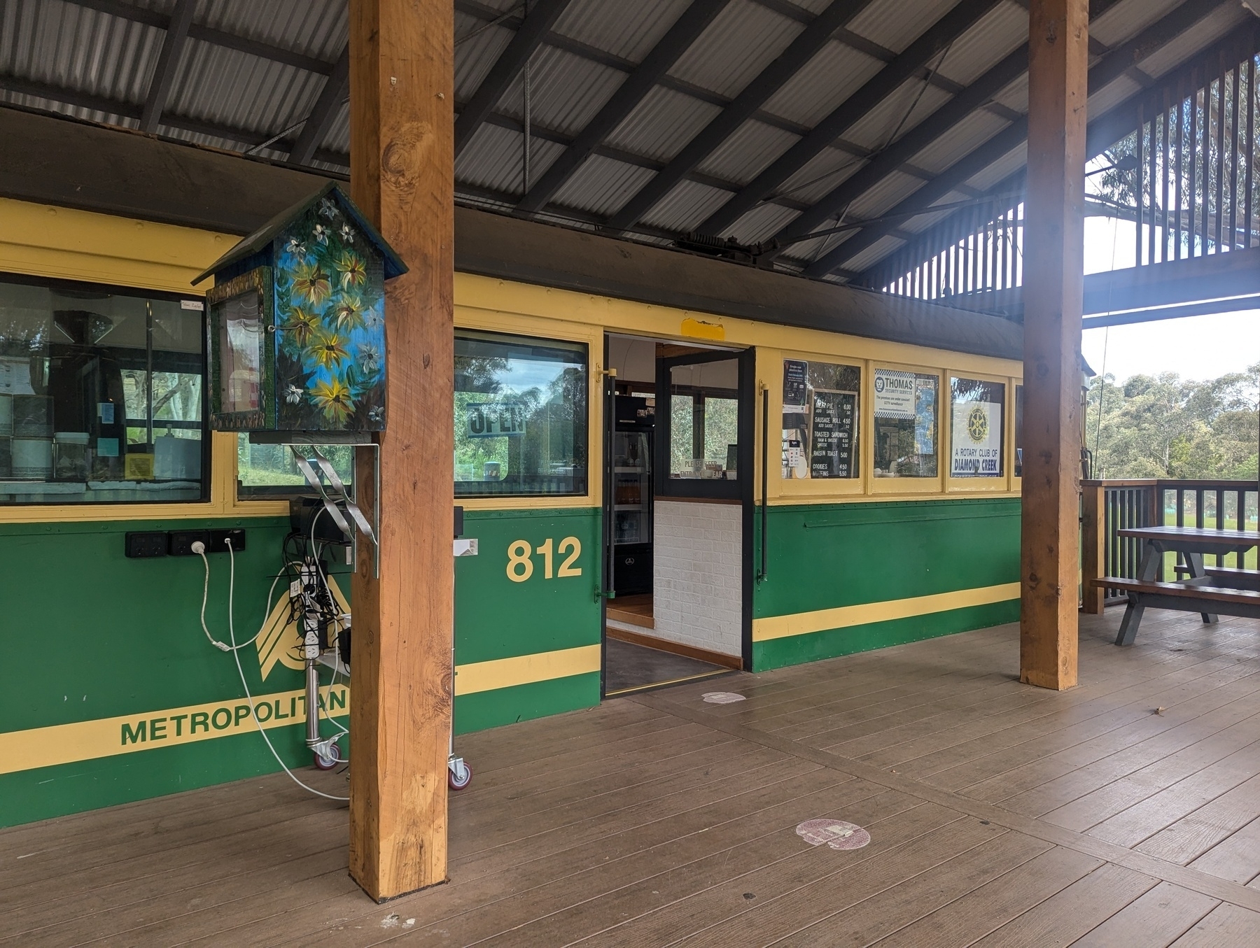
[[[651,592],[651,431],[646,398],[617,395],[612,433],[612,583],[617,595]]]

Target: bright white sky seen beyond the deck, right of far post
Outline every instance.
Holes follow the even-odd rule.
[[[1085,272],[1131,267],[1133,228],[1129,220],[1086,218]],[[1119,381],[1162,371],[1215,379],[1260,363],[1260,311],[1091,329],[1084,334],[1081,353],[1094,371]]]

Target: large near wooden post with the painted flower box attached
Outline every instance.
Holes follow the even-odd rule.
[[[450,0],[350,0],[350,191],[411,268],[386,291],[381,575],[367,553],[353,585],[350,875],[377,900],[446,879],[454,60]]]

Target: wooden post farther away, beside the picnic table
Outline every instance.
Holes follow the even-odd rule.
[[[1089,0],[1028,6],[1019,677],[1076,684]]]

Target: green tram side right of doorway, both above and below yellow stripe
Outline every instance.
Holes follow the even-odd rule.
[[[1019,499],[770,507],[753,617],[908,599],[1019,580]],[[753,517],[760,556],[760,510]],[[757,671],[1012,622],[1018,602],[753,645]]]

